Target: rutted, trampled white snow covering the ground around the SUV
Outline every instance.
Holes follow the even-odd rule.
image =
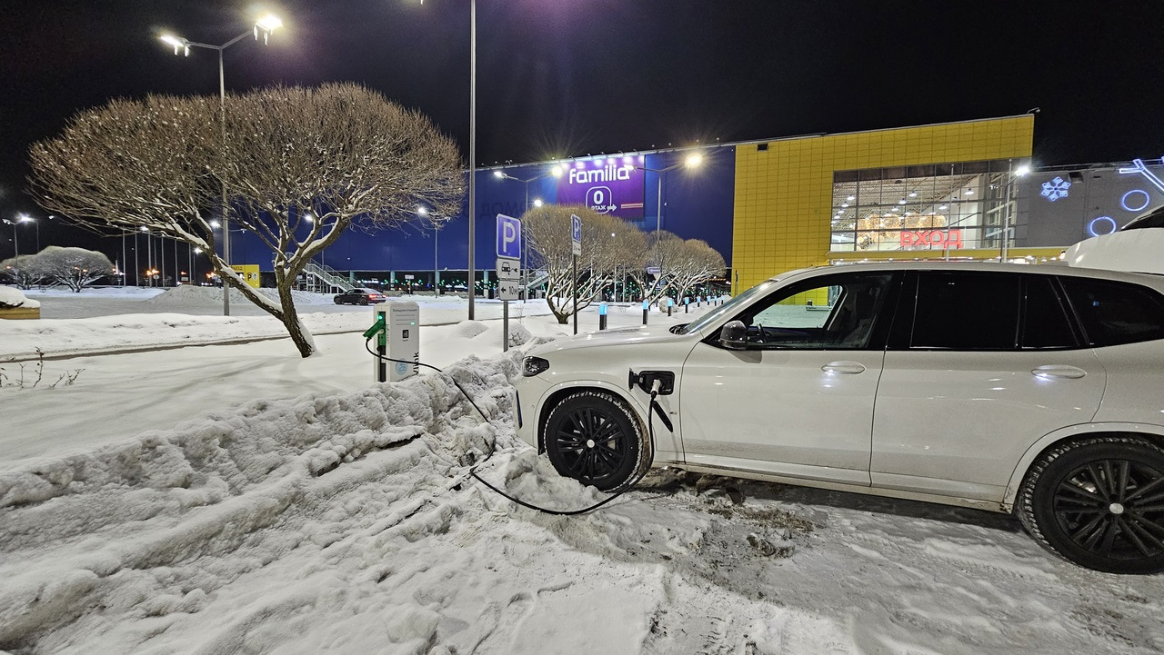
[[[513,439],[496,321],[423,335],[490,425],[441,376],[369,386],[359,335],[0,389],[0,650],[1164,650],[1164,579],[1057,561],[1005,515],[674,470],[585,517],[514,507],[466,451],[496,443],[482,475],[535,503],[598,494]]]

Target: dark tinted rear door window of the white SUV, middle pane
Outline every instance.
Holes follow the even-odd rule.
[[[1021,279],[1015,273],[922,271],[910,348],[1013,350]]]

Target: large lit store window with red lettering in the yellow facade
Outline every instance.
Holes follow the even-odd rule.
[[[1007,202],[1012,165],[1000,159],[836,171],[830,249],[999,248],[1003,213],[1014,215],[1013,201]]]

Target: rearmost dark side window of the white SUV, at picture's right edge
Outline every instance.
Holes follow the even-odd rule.
[[[1124,282],[1059,279],[1092,346],[1164,339],[1164,299],[1156,291]]]

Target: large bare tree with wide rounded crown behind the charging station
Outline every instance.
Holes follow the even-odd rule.
[[[33,145],[30,181],[47,209],[97,230],[142,227],[201,248],[225,284],[279,319],[300,355],[315,350],[291,299],[312,257],[352,226],[396,227],[460,207],[456,145],[424,115],[353,84],[218,99],[150,95],[81,112]],[[251,289],[215,249],[222,185],[235,226],[271,252],[279,301]]]

